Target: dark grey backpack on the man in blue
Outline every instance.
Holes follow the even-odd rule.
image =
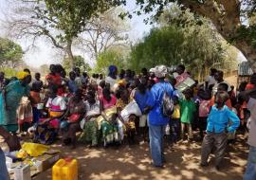
[[[166,91],[163,95],[161,110],[164,117],[171,117],[174,113],[174,100]]]

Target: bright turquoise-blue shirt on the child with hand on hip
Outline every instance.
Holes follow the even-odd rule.
[[[207,132],[223,133],[227,129],[228,132],[233,133],[239,127],[239,124],[239,117],[228,106],[225,105],[221,110],[218,110],[214,105],[207,119]]]

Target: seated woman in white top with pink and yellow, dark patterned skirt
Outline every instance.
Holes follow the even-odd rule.
[[[51,144],[58,135],[60,120],[64,116],[66,103],[63,97],[57,96],[58,87],[51,86],[49,89],[49,99],[46,103],[49,117],[40,119],[35,135],[34,141],[42,144]]]

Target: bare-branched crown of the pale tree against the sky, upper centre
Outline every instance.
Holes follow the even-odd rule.
[[[115,46],[127,46],[129,25],[119,18],[122,9],[109,9],[92,19],[76,41],[78,48],[85,50],[93,60],[101,52]],[[90,30],[89,30],[90,29]]]

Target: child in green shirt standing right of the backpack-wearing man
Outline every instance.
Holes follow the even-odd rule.
[[[187,89],[184,93],[185,99],[180,100],[180,121],[181,121],[181,137],[185,140],[185,129],[188,131],[189,140],[192,140],[192,118],[196,112],[195,104],[192,100],[192,90]]]

